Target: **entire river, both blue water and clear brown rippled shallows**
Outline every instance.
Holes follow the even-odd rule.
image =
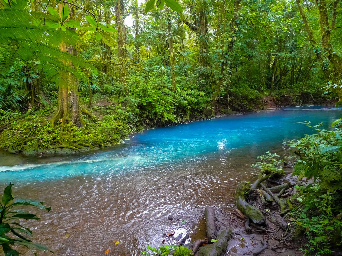
[[[203,237],[204,208],[232,209],[237,183],[257,176],[255,157],[283,153],[283,142],[311,133],[296,122],[328,127],[341,116],[341,109],[289,107],[145,130],[74,156],[2,152],[0,191],[12,182],[15,196],[52,207],[27,225],[56,255],[139,255],[163,233]]]

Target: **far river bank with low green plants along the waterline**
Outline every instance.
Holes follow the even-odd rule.
[[[83,127],[76,127],[68,124],[68,127],[51,126],[49,120],[53,110],[39,109],[27,112],[21,116],[22,119],[11,119],[10,112],[4,112],[0,124],[0,148],[14,154],[24,155],[72,155],[98,150],[99,148],[110,147],[134,136],[144,129],[185,124],[189,122],[207,120],[227,115],[258,112],[263,110],[278,110],[280,106],[299,103],[301,99],[290,100],[293,97],[279,98],[266,96],[260,105],[254,108],[240,104],[240,108],[225,109],[224,106],[217,108],[214,112],[211,109],[203,111],[194,110],[187,119],[171,120],[155,119],[150,122],[148,119],[134,117],[134,114],[126,110],[126,107],[109,99],[99,98],[94,100],[87,124]],[[305,98],[305,97],[304,97]],[[292,102],[292,103],[291,103]],[[326,106],[332,106],[333,102],[327,101]],[[7,114],[6,114],[7,113]],[[6,116],[7,115],[7,116]],[[18,114],[19,115],[19,114]],[[14,121],[11,121],[14,120]],[[12,123],[11,123],[12,122]]]

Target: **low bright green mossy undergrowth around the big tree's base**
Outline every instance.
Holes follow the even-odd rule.
[[[86,120],[79,128],[72,123],[51,126],[47,110],[28,113],[20,122],[3,130],[0,147],[10,152],[75,153],[99,146],[111,146],[127,138],[132,126],[115,115],[105,115],[103,120]]]

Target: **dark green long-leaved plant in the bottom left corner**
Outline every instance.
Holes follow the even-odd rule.
[[[49,251],[47,247],[32,243],[28,238],[32,237],[32,231],[22,226],[20,219],[39,219],[36,214],[17,209],[17,206],[33,206],[38,209],[50,211],[51,207],[45,207],[43,202],[27,199],[14,199],[12,185],[8,185],[0,200],[0,245],[5,256],[19,256],[20,253],[11,248],[12,245],[27,247],[35,255],[36,251]],[[9,237],[10,235],[10,237]],[[14,238],[13,238],[14,237]]]

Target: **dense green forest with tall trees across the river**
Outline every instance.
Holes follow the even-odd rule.
[[[341,3],[324,4],[329,28],[310,1],[1,1],[0,146],[81,151],[265,95],[334,99]]]

